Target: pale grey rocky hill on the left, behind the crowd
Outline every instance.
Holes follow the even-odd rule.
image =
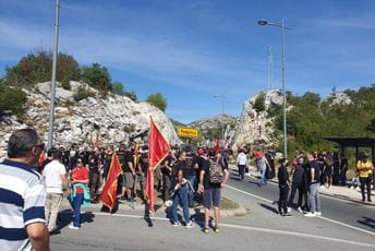
[[[100,93],[82,82],[71,82],[71,89],[57,87],[55,143],[59,146],[93,146],[128,143],[149,128],[149,117],[171,144],[180,143],[176,130],[168,117],[158,108],[147,103],[135,103],[128,97]],[[7,155],[7,142],[11,133],[21,128],[33,127],[38,130],[44,141],[48,140],[50,83],[37,84],[27,94],[25,115],[3,116],[0,118],[0,157]],[[75,101],[74,95],[84,89],[90,95]]]

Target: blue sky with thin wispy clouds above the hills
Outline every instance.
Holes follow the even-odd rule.
[[[0,74],[35,48],[52,48],[55,0],[0,0]],[[283,17],[287,88],[326,96],[375,82],[373,0],[61,0],[60,51],[80,63],[106,65],[140,99],[161,92],[167,113],[191,122],[221,112],[239,116],[243,101],[281,86],[277,27]]]

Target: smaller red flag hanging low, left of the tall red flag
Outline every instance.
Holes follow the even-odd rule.
[[[100,194],[100,202],[110,210],[113,208],[117,195],[118,177],[122,169],[116,152],[112,155],[111,166],[109,167],[107,180]]]

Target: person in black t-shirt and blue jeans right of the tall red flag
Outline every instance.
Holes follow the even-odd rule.
[[[177,227],[180,225],[178,222],[177,207],[180,204],[182,206],[183,219],[186,228],[192,228],[193,223],[189,215],[189,202],[188,202],[188,190],[189,184],[186,182],[188,177],[188,164],[186,164],[186,152],[182,151],[179,153],[179,158],[174,163],[172,168],[172,175],[174,179],[174,194],[172,196],[173,204],[171,208],[172,226]]]

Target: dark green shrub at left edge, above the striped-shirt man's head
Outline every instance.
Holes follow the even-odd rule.
[[[13,115],[22,115],[26,101],[26,93],[22,89],[0,85],[0,116],[4,115],[5,111],[11,111]]]

